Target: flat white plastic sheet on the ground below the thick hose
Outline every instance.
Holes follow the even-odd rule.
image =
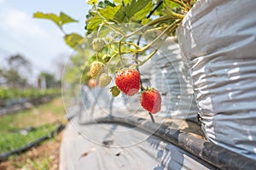
[[[60,169],[216,169],[200,158],[142,130],[127,135],[132,127],[117,123],[78,125],[78,117],[67,126],[61,143]],[[75,125],[76,124],[76,125]],[[80,132],[91,134],[95,141]],[[102,128],[103,127],[103,128]],[[137,143],[137,138],[144,140]],[[125,147],[122,144],[132,144]]]

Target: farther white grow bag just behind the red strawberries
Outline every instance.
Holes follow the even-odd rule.
[[[168,37],[150,62],[140,68],[152,86],[160,91],[161,111],[155,116],[197,122],[198,109],[189,82],[189,66],[183,62],[177,38]]]

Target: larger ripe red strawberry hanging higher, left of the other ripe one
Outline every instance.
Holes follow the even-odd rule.
[[[136,69],[124,69],[116,74],[115,84],[124,94],[132,96],[140,89],[140,74]]]

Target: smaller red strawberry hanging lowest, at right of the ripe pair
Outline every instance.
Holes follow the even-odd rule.
[[[161,95],[154,88],[147,88],[141,94],[141,105],[150,113],[157,113],[161,110]]]

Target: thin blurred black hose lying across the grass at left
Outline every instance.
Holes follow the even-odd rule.
[[[58,127],[55,128],[55,130],[51,131],[50,133],[46,134],[45,136],[35,139],[31,143],[26,144],[18,149],[10,150],[8,152],[1,154],[0,161],[6,160],[11,155],[20,154],[22,152],[25,152],[26,150],[30,150],[33,146],[40,144],[44,140],[53,138],[55,134],[60,133],[64,128],[65,128],[65,125],[60,124]]]

